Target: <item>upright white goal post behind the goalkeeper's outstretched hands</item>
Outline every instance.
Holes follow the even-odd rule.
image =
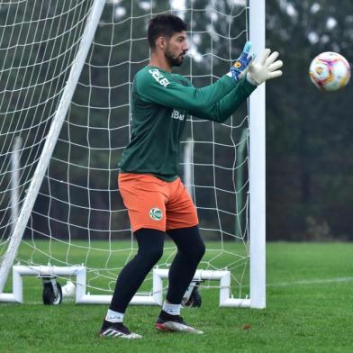
[[[265,0],[249,1],[249,39],[265,49]],[[249,97],[249,219],[251,307],[266,306],[266,101],[265,85]]]

